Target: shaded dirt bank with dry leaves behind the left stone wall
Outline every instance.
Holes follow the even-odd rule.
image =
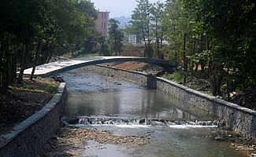
[[[21,84],[9,86],[7,93],[0,93],[0,134],[35,114],[54,96],[59,83],[54,79],[24,78]]]

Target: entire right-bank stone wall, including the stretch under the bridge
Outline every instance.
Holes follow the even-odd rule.
[[[247,138],[256,137],[256,111],[199,93],[176,82],[158,77],[154,78],[152,75],[146,75],[138,71],[126,71],[98,65],[87,67],[87,70],[98,72],[102,75],[121,77],[150,89],[158,89],[163,93],[170,94],[176,100],[181,100],[187,108],[192,106],[216,115],[236,133],[241,133]]]

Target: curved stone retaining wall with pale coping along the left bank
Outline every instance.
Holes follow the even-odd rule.
[[[59,128],[66,94],[65,83],[61,83],[58,93],[44,108],[14,126],[10,133],[0,136],[0,157],[40,156]]]

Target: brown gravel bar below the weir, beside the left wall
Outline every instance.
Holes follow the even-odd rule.
[[[83,156],[87,142],[95,141],[99,144],[136,144],[144,145],[150,141],[134,136],[116,136],[107,131],[95,128],[84,129],[76,127],[63,127],[50,141],[50,148],[42,156]]]

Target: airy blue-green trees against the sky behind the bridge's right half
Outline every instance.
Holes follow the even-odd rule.
[[[155,50],[158,53],[158,58],[163,59],[161,49],[164,33],[163,27],[161,27],[161,16],[164,4],[160,1],[150,3],[148,0],[138,0],[137,3],[132,13],[131,25],[126,32],[142,39],[145,46],[144,57],[152,57]]]

